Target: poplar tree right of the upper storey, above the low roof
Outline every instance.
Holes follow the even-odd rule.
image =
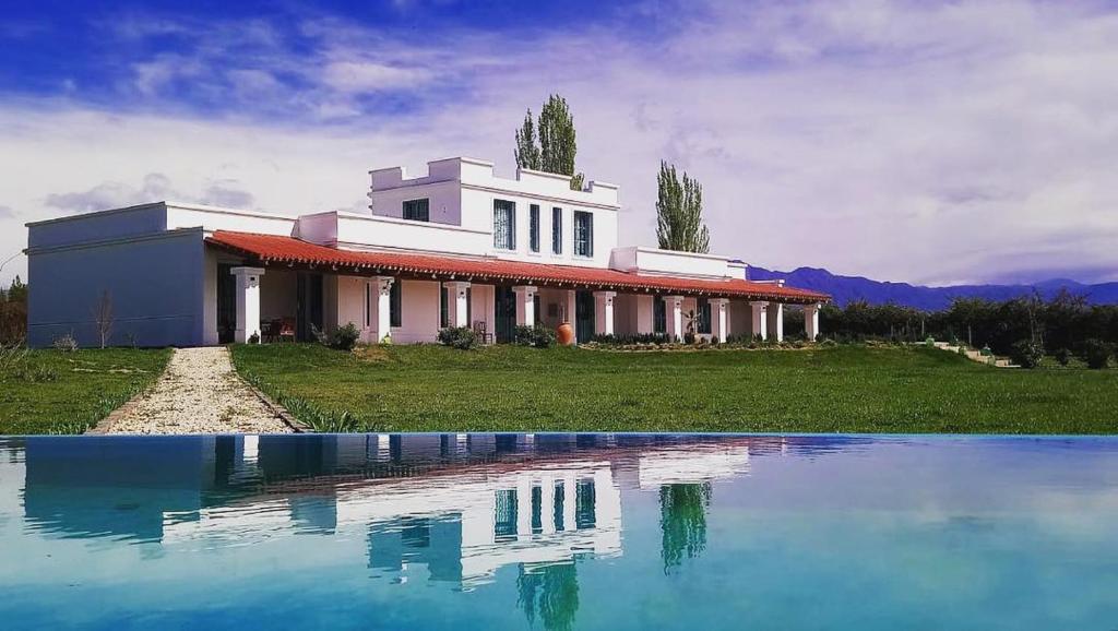
[[[702,220],[702,185],[686,171],[681,181],[675,164],[663,160],[656,185],[656,238],[661,249],[710,252],[710,232]]]

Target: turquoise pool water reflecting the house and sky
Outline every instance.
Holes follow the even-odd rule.
[[[0,439],[0,629],[1118,629],[1118,440]]]

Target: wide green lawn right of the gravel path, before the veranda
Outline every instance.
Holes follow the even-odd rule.
[[[925,348],[233,352],[333,431],[1118,433],[1118,370],[995,369]]]

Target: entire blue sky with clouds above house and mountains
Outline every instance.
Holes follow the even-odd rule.
[[[558,92],[626,243],[655,242],[667,159],[704,185],[712,251],[754,264],[1118,280],[1114,3],[11,4],[0,261],[69,213],[361,210],[368,169],[454,154],[509,175]]]

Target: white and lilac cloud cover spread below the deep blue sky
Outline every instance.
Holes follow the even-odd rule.
[[[351,208],[373,167],[472,154],[510,173],[524,109],[559,92],[578,124],[579,169],[622,185],[625,242],[654,243],[666,158],[703,182],[712,249],[750,263],[932,283],[1112,270],[1118,83],[1106,77],[1118,65],[1118,18],[1091,11],[713,3],[662,9],[693,17],[665,21],[654,41],[591,25],[510,39],[500,54],[485,34],[394,48],[376,29],[318,20],[303,26],[320,43],[309,54],[285,53],[272,34],[217,68],[245,87],[245,109],[295,107],[282,123],[244,110],[198,120],[0,106],[0,128],[12,130],[0,204],[40,218],[57,213],[50,195],[127,198],[143,186],[106,182],[155,170],[197,199],[235,180],[266,209]],[[157,70],[144,84],[155,95],[177,81]],[[424,106],[385,114],[358,98],[386,90]],[[25,238],[12,224],[0,218],[6,249]]]

